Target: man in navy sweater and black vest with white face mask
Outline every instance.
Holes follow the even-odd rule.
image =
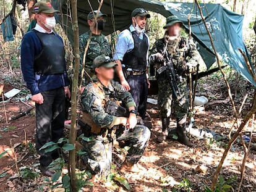
[[[40,154],[41,172],[49,177],[48,165],[58,152],[40,149],[49,141],[57,142],[63,135],[65,95],[70,98],[66,73],[65,50],[61,36],[53,31],[54,10],[49,2],[35,4],[35,28],[28,31],[20,49],[21,69],[32,101],[36,107],[36,150]]]

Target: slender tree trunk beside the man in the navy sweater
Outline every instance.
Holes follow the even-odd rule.
[[[77,86],[79,79],[79,25],[77,20],[77,0],[70,0],[72,10],[72,29],[74,33],[74,79],[72,80],[72,96],[71,96],[71,128],[69,131],[69,142],[75,146],[75,127],[77,125]],[[72,192],[77,191],[77,178],[75,175],[75,149],[69,151],[69,175]]]

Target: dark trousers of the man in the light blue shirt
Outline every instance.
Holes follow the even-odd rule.
[[[148,97],[148,82],[146,74],[129,75],[127,77],[127,82],[130,85],[130,93],[134,98],[136,110],[139,112],[140,117],[142,117],[142,119],[145,119]]]

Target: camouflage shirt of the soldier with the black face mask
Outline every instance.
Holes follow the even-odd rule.
[[[91,31],[87,31],[86,33],[83,33],[83,35],[79,36],[80,73],[82,71],[83,53],[85,52],[85,47],[87,45],[87,41],[90,36],[90,33]],[[85,57],[85,68],[92,69],[93,60],[100,55],[111,56],[111,48],[110,48],[109,42],[106,39],[106,36],[103,34],[100,34],[100,35],[92,34],[92,38],[90,40],[90,44]],[[92,75],[91,72],[88,72],[88,73],[89,75]],[[85,76],[83,76],[82,85],[83,86],[86,85]]]

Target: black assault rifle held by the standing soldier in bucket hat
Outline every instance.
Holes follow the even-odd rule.
[[[169,85],[171,86],[171,90],[173,91],[174,98],[177,98],[179,94],[179,88],[177,86],[177,81],[179,81],[179,75],[176,74],[176,71],[173,67],[173,61],[166,57],[164,59],[164,65],[157,70],[158,75],[161,73],[165,73],[168,78]]]

